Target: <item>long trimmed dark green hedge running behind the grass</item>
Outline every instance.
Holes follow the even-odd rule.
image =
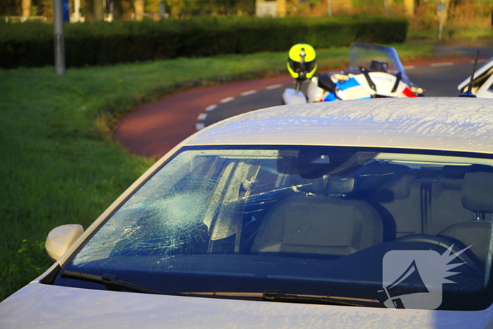
[[[65,24],[65,63],[97,66],[157,58],[287,51],[354,41],[404,42],[408,22],[396,18],[194,18]],[[0,24],[0,67],[52,66],[53,25]]]

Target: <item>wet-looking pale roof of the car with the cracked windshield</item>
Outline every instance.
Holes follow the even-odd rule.
[[[220,121],[185,145],[334,145],[493,153],[493,99],[387,98],[276,106]]]

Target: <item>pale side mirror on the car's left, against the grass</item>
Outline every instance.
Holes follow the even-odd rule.
[[[48,233],[44,249],[52,261],[58,261],[84,232],[82,225],[68,224],[54,228]]]

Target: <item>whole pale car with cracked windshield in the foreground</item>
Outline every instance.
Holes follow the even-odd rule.
[[[493,101],[266,108],[163,156],[0,328],[493,328]]]

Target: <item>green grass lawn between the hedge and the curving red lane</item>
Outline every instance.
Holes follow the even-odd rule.
[[[403,61],[432,52],[395,47]],[[344,66],[347,52],[319,50],[319,67]],[[89,226],[154,162],[111,139],[118,116],[190,82],[285,72],[286,59],[177,58],[74,68],[61,77],[52,67],[0,70],[0,301],[48,268],[44,239],[51,228]]]

